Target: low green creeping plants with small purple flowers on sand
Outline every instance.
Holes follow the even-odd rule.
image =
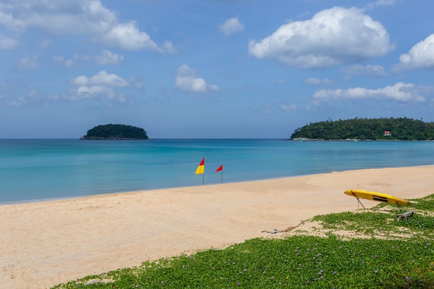
[[[397,208],[315,216],[322,236],[291,232],[226,249],[144,262],[53,289],[71,288],[434,288],[434,195]],[[296,229],[295,229],[296,230]],[[339,231],[354,235],[342,236]],[[318,232],[317,231],[317,232]]]

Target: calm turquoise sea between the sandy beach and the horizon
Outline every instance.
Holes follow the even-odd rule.
[[[432,164],[434,141],[0,139],[0,205]]]

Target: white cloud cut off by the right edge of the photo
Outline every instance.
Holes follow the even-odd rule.
[[[408,53],[399,56],[400,64],[394,71],[400,69],[434,69],[434,34],[429,35],[415,44]]]

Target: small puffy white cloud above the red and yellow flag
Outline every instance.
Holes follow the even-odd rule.
[[[188,65],[181,65],[175,76],[175,85],[178,89],[187,92],[210,92],[218,91],[217,85],[207,85],[205,79],[196,76],[196,71]]]

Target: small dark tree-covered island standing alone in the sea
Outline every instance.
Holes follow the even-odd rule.
[[[98,125],[87,134],[80,137],[82,140],[144,140],[149,139],[143,128],[132,125]]]

